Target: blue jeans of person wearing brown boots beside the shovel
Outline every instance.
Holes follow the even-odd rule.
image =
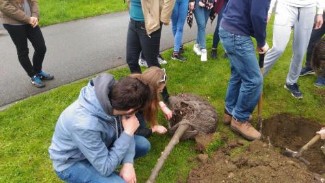
[[[249,36],[235,35],[222,27],[219,36],[231,64],[226,110],[238,121],[248,121],[263,88],[254,44]]]

